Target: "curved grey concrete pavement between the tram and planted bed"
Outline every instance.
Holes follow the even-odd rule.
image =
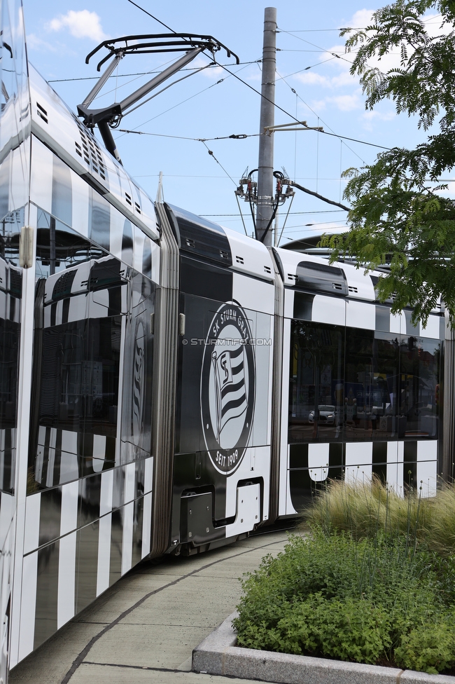
[[[141,563],[18,664],[9,684],[246,682],[190,672],[191,653],[235,610],[238,577],[286,540],[273,532],[200,556]]]

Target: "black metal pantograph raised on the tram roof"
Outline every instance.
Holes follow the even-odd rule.
[[[193,61],[194,58],[204,50],[209,50],[213,60],[215,60],[215,53],[223,48],[228,57],[235,57],[237,64],[239,64],[239,57],[223,45],[223,43],[217,41],[213,36],[196,36],[194,34],[183,33],[125,36],[124,38],[116,38],[100,43],[99,46],[94,48],[94,50],[85,57],[85,63],[88,64],[90,58],[102,48],[109,50],[109,54],[98,62],[97,71],[100,71],[102,65],[111,59],[111,57],[112,61],[108,67],[106,67],[106,70],[102,76],[100,76],[99,81],[97,81],[94,88],[92,88],[87,97],[85,97],[83,103],[78,105],[78,113],[79,116],[83,116],[84,124],[89,128],[94,128],[95,125],[98,126],[106,149],[120,163],[122,163],[120,155],[110,129],[116,128],[119,125],[121,118],[129,113],[128,110],[132,111],[131,107],[133,107],[134,104],[148,95],[151,90],[158,88],[158,86],[166,81],[167,78],[176,74],[177,71]],[[186,54],[183,55],[183,57],[180,57],[179,60],[176,60],[174,64],[171,64],[170,67],[164,69],[158,76],[151,78],[144,86],[134,90],[134,93],[125,97],[121,102],[113,102],[109,107],[102,107],[101,109],[90,109],[90,104],[92,104],[94,98],[104,86],[104,83],[106,83],[109,76],[111,76],[120,63],[120,60],[122,60],[125,55],[176,52],[185,52]]]

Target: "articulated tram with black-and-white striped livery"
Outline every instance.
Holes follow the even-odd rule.
[[[324,481],[434,495],[442,303],[155,202],[27,63],[3,0],[0,677],[142,559],[291,517]]]

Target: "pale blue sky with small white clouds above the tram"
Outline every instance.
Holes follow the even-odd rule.
[[[165,200],[212,221],[251,235],[250,207],[235,189],[246,168],[258,166],[258,132],[264,9],[263,0],[23,0],[29,61],[66,104],[76,111],[97,76],[97,55],[85,57],[100,42],[136,34],[175,32],[214,36],[239,57],[216,53],[222,67],[207,67],[167,89],[128,114],[114,130],[127,171],[155,198],[162,172]],[[274,169],[298,184],[345,203],[342,171],[374,162],[384,147],[415,146],[426,139],[416,118],[397,116],[393,102],[365,111],[357,76],[349,74],[353,55],[344,51],[342,27],[365,27],[383,2],[372,0],[288,0],[276,4],[275,124],[306,121],[314,130],[274,133]],[[437,16],[428,27],[440,31]],[[98,53],[106,56],[106,51]],[[176,55],[180,56],[180,55]],[[92,107],[118,102],[169,64],[172,55],[128,55],[114,72]],[[396,57],[386,57],[382,68]],[[206,67],[199,56],[188,69]],[[190,74],[182,71],[171,83]],[[231,73],[230,73],[231,72]],[[235,75],[233,75],[235,74]],[[99,75],[99,74],[98,74]],[[160,90],[160,89],[158,89]],[[332,135],[328,135],[332,134]],[[246,135],[237,139],[230,135]],[[344,136],[342,139],[338,136]],[[359,142],[356,142],[359,141]],[[455,175],[454,175],[455,181]],[[286,215],[287,214],[287,215]],[[243,217],[243,218],[242,218]],[[295,191],[280,207],[280,244],[303,235],[346,226],[346,212]]]

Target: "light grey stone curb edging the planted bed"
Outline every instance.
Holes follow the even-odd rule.
[[[455,684],[455,677],[235,646],[232,613],[193,650],[193,672],[274,684]]]

